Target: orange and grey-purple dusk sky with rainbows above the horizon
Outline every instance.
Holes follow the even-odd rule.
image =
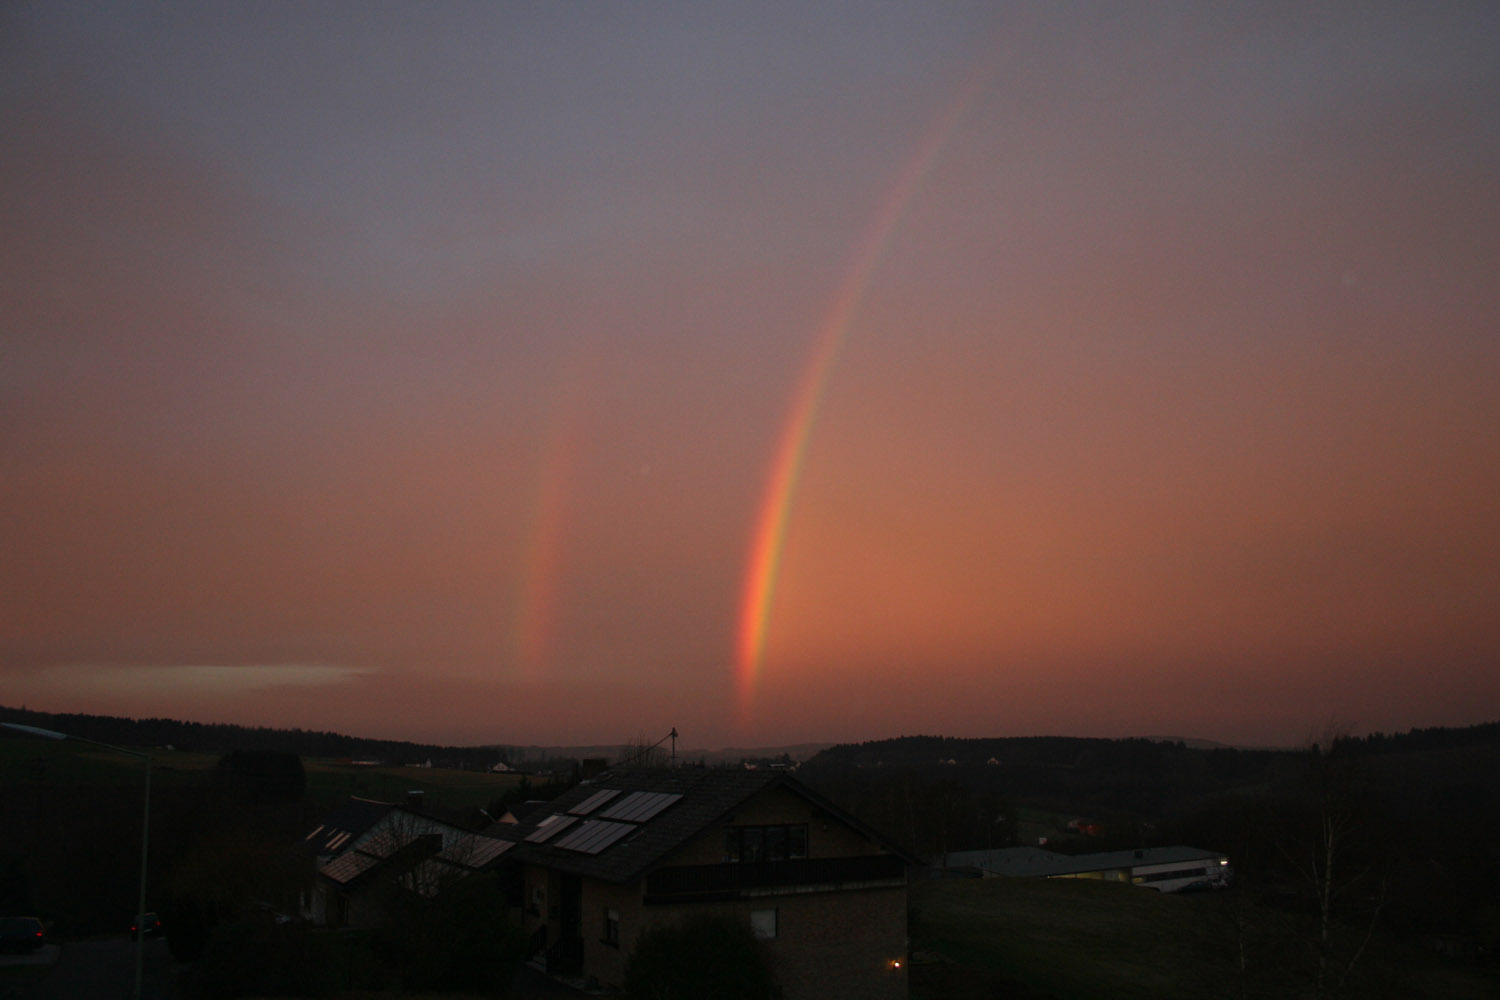
[[[1500,718],[1500,6],[0,9],[0,705]]]

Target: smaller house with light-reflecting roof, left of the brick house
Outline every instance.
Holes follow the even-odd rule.
[[[350,829],[357,822],[363,822],[358,832]],[[336,846],[332,855],[320,853],[303,907],[304,916],[322,927],[374,927],[392,892],[436,895],[453,880],[489,870],[514,847],[508,840],[368,799],[351,799],[308,841]]]

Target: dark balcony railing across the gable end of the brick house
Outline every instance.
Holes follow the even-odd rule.
[[[646,876],[645,901],[734,900],[747,895],[819,892],[903,885],[906,864],[894,855],[808,858],[723,865],[680,865]]]

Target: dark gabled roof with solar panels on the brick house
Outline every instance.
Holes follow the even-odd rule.
[[[802,796],[822,813],[915,864],[908,852],[784,771],[676,768],[606,772],[560,795],[502,834],[510,858],[604,882],[639,879],[684,843],[770,787]]]

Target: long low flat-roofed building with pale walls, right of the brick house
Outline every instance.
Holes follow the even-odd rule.
[[[981,876],[1022,879],[1102,879],[1128,882],[1158,892],[1222,888],[1234,870],[1228,858],[1197,847],[1143,847],[1092,855],[1059,855],[1040,847],[957,850],[944,856],[944,867],[974,870]]]

